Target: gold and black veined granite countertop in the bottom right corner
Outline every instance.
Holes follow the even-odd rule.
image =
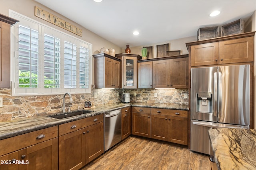
[[[218,170],[256,169],[256,129],[208,130]]]

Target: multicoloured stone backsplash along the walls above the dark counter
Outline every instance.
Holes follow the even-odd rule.
[[[86,99],[90,99],[96,107],[119,103],[122,93],[130,93],[130,102],[188,105],[188,99],[184,99],[184,93],[188,93],[188,89],[93,89],[91,94],[72,94],[74,104],[70,109],[78,109],[78,102],[80,109],[84,108]],[[136,97],[134,97],[134,93],[136,93]],[[157,93],[157,97],[154,97],[155,93]],[[97,94],[96,99],[94,99],[94,94]],[[62,112],[63,95],[11,96],[10,88],[0,88],[0,97],[3,98],[3,107],[0,107],[0,122]],[[70,105],[68,95],[65,99],[67,108]]]

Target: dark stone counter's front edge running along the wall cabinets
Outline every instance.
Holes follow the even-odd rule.
[[[152,105],[157,105],[157,104],[152,104]],[[114,110],[130,107],[130,106],[150,107],[150,108],[158,108],[158,109],[176,109],[176,110],[187,110],[187,111],[189,110],[188,108],[168,107],[168,106],[152,106],[152,105],[150,105],[150,104],[147,104],[147,105],[126,104],[125,106],[116,105],[116,106],[114,106],[114,108],[107,109],[105,111],[93,111],[91,113],[85,113],[85,114],[82,114],[82,115],[67,117],[67,118],[64,118],[64,119],[56,119],[56,118],[51,118],[51,117],[47,117],[47,116],[41,116],[41,117],[45,117],[45,120],[48,121],[48,123],[42,123],[42,124],[38,124],[36,126],[34,125],[34,126],[31,126],[31,127],[28,125],[28,127],[24,127],[20,130],[18,130],[18,129],[14,129],[14,130],[11,130],[11,131],[8,130],[8,132],[6,132],[6,133],[4,132],[4,133],[0,134],[0,140],[10,138],[10,137],[14,137],[14,136],[18,136],[18,135],[22,135],[22,134],[29,133],[29,132],[32,132],[32,131],[37,131],[37,130],[40,130],[40,129],[45,129],[45,128],[48,128],[48,127],[53,127],[53,126],[60,125],[60,124],[63,124],[63,123],[68,123],[68,122],[71,122],[71,121],[76,121],[76,120],[79,120],[79,119],[84,119],[84,118],[87,118],[87,117],[92,117],[92,116],[95,116],[95,115],[104,114],[104,113],[109,112],[109,111],[114,111]],[[80,109],[80,110],[76,110],[76,111],[81,111],[81,110],[84,110],[84,109]],[[91,110],[94,110],[94,109],[91,109]],[[76,112],[76,111],[72,111],[72,112]]]

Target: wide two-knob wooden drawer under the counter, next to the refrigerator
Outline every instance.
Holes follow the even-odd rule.
[[[188,111],[186,111],[186,110],[173,110],[173,109],[157,109],[157,108],[152,108],[151,109],[151,114],[178,116],[178,117],[188,117]]]

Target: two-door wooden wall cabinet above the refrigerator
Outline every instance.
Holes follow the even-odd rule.
[[[253,62],[254,33],[186,43],[191,66]]]

